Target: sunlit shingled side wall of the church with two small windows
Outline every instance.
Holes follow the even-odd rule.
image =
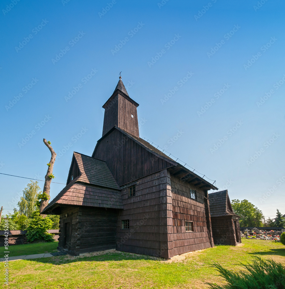
[[[173,254],[211,247],[211,236],[209,236],[205,214],[204,191],[173,175],[170,175],[170,180],[173,210]],[[196,190],[197,200],[187,197],[190,188]],[[193,232],[185,231],[185,221],[193,222]]]

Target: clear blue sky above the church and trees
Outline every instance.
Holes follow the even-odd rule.
[[[230,199],[284,214],[284,8],[282,0],[1,1],[0,173],[43,180],[46,138],[63,183],[51,185],[53,199],[73,151],[92,155],[122,71],[139,103],[140,137],[167,146]],[[0,175],[4,214],[28,182]]]

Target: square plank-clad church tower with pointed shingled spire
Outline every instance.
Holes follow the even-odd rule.
[[[102,136],[107,134],[116,125],[127,133],[139,138],[138,106],[139,104],[129,97],[120,76],[113,94],[103,105],[105,113]]]

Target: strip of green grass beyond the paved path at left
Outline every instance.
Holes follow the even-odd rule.
[[[21,256],[21,255],[31,255],[31,254],[41,254],[41,253],[51,253],[57,251],[58,242],[48,242],[48,243],[33,243],[33,244],[21,244],[21,245],[10,245],[9,246],[9,256]],[[4,247],[1,247],[0,257],[4,257]]]

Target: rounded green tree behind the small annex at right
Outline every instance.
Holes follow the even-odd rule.
[[[239,224],[241,227],[262,227],[264,215],[252,203],[247,200],[232,200],[232,210],[241,216]]]

